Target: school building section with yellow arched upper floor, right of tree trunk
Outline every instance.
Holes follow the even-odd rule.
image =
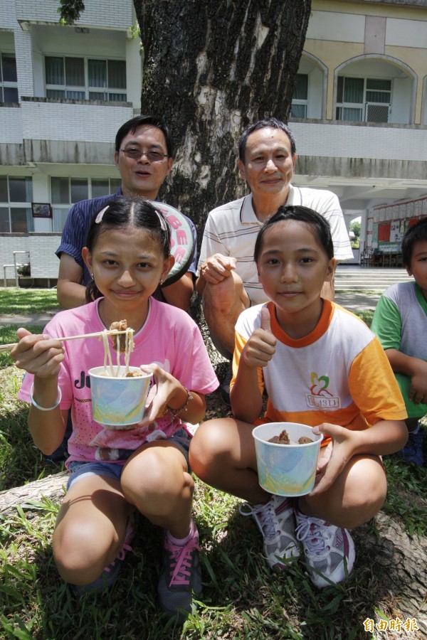
[[[313,0],[292,101],[295,183],[361,218],[359,264],[401,266],[427,216],[426,0]]]

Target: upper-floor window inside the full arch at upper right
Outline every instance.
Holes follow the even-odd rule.
[[[344,78],[337,82],[337,120],[389,122],[391,80]]]

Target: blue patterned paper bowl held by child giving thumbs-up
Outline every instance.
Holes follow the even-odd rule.
[[[313,442],[307,444],[275,444],[268,442],[283,430],[288,432],[290,442],[298,442],[302,436]],[[317,458],[322,434],[314,434],[312,427],[298,422],[267,422],[255,427],[256,462],[260,486],[277,496],[305,496],[315,486]]]

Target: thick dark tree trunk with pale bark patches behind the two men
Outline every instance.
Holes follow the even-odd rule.
[[[142,112],[159,114],[176,161],[162,200],[199,231],[243,195],[238,138],[265,116],[286,121],[310,0],[134,0],[144,46]]]

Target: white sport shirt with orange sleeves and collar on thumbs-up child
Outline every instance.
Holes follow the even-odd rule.
[[[233,380],[248,338],[261,324],[264,305],[243,311],[236,323]],[[341,306],[323,301],[314,331],[293,340],[280,328],[275,306],[267,303],[276,351],[258,370],[258,385],[268,393],[262,422],[302,422],[315,427],[332,422],[363,430],[379,420],[404,420],[406,409],[394,373],[378,338]]]

